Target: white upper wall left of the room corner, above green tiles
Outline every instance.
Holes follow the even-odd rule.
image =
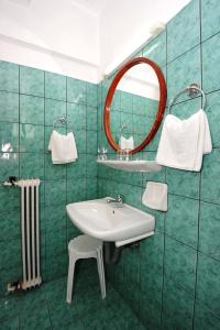
[[[72,0],[0,0],[0,58],[97,81],[97,16]]]

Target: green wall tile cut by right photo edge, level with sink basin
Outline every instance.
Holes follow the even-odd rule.
[[[199,250],[220,261],[220,206],[201,202],[199,217]]]

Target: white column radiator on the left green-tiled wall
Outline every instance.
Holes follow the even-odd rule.
[[[40,183],[40,179],[25,179],[16,183],[21,188],[23,289],[40,285],[42,282],[38,226]]]

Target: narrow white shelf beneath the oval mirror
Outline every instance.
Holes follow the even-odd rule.
[[[109,166],[111,168],[122,169],[127,172],[158,172],[162,169],[162,166],[158,165],[155,161],[98,160],[97,163]]]

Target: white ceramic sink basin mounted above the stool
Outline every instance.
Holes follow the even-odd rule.
[[[128,204],[122,208],[107,199],[73,202],[66,206],[72,222],[84,233],[124,245],[154,234],[155,218]]]

